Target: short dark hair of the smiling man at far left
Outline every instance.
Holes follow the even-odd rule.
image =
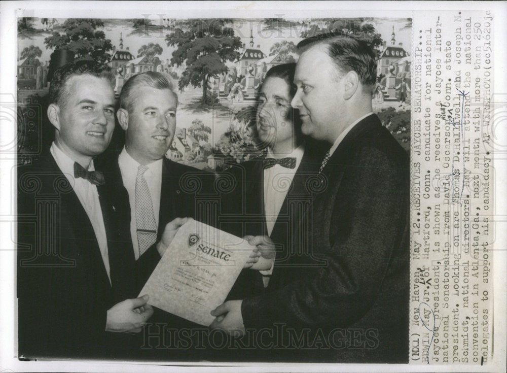
[[[66,83],[73,76],[91,75],[107,79],[113,87],[114,76],[108,66],[97,64],[89,60],[70,62],[59,67],[53,74],[49,86],[49,103],[59,106],[65,105],[69,96]]]

